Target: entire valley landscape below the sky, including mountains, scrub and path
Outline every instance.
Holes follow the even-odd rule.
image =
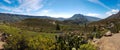
[[[115,50],[119,48],[119,16],[120,12],[106,19],[75,14],[59,20],[0,13],[0,49]],[[97,44],[93,44],[95,39],[99,39]]]

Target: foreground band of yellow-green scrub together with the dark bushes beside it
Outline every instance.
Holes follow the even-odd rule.
[[[95,50],[88,37],[79,33],[39,33],[0,25],[0,31],[11,35],[6,38],[5,50]]]

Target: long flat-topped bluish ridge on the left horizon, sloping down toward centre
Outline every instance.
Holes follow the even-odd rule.
[[[59,21],[65,20],[64,18],[52,18],[50,16],[30,16],[30,15],[0,13],[0,22],[17,22],[27,18],[52,19],[52,20],[59,20]]]

